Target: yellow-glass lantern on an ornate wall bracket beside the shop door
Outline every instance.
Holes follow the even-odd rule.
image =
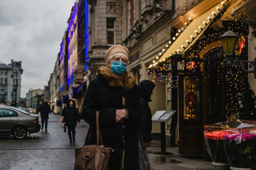
[[[237,45],[239,36],[237,36],[229,27],[229,31],[225,32],[220,36],[224,54],[226,56],[225,62],[227,64],[232,64],[233,66],[240,66],[241,70],[245,73],[254,73],[254,78],[256,78],[256,58],[254,61],[244,61],[244,60],[232,60],[232,56],[235,53],[235,46]],[[244,68],[245,63],[249,63],[250,70]]]

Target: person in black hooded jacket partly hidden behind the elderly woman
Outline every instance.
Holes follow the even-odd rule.
[[[143,137],[143,141],[146,147],[151,146],[151,131],[152,131],[152,114],[149,108],[149,102],[151,95],[153,94],[153,90],[155,88],[155,84],[150,80],[142,80],[138,84],[139,95],[141,96],[141,110],[142,110],[142,120],[139,123],[141,127],[141,133]]]

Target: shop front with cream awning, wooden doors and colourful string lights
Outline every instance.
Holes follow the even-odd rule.
[[[185,27],[177,28],[176,36],[147,68],[156,84],[171,83],[178,88],[179,153],[204,153],[205,160],[204,125],[256,119],[248,73],[227,63],[220,38],[229,29],[233,31],[238,36],[233,60],[248,60],[247,20],[224,16],[233,3],[224,0],[196,18],[184,18]]]

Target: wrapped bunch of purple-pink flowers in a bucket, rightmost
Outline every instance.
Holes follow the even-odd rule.
[[[224,150],[230,167],[250,168],[254,161],[255,137],[256,135],[251,133],[223,136]]]

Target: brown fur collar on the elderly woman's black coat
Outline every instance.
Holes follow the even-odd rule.
[[[101,74],[112,87],[122,87],[125,88],[126,91],[130,91],[136,84],[135,78],[131,76],[128,71],[123,73],[122,78],[118,78],[110,69],[103,66],[99,68],[98,73]]]

